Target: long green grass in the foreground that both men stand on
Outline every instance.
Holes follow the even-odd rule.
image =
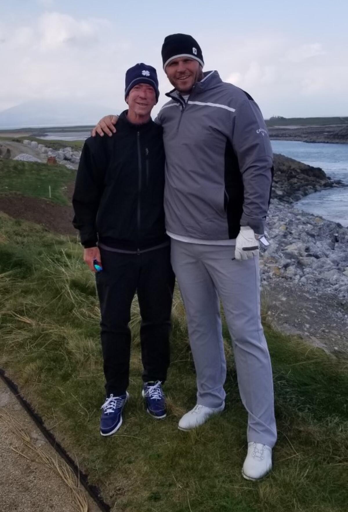
[[[345,362],[266,326],[274,368],[278,443],[274,471],[241,476],[247,415],[233,354],[227,407],[197,431],[178,431],[195,403],[182,304],[173,308],[169,416],[156,422],[140,398],[139,313],[132,311],[130,395],[124,425],[99,435],[104,378],[93,276],[68,238],[0,214],[0,366],[18,383],[112,510],[127,512],[338,512],[348,501]]]

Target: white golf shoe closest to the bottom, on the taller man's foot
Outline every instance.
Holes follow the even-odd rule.
[[[260,480],[272,470],[272,448],[266,444],[248,443],[242,475],[247,480]]]

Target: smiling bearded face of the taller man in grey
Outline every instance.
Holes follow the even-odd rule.
[[[190,57],[178,57],[171,60],[166,66],[165,72],[172,86],[183,94],[189,93],[194,84],[203,77],[200,63]]]

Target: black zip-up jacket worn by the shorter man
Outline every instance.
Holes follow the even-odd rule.
[[[90,137],[83,147],[72,203],[85,248],[138,252],[169,240],[162,128],[152,120],[133,124],[126,114],[112,137]]]

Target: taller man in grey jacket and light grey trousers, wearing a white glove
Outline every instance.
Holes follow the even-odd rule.
[[[272,468],[276,441],[258,255],[273,176],[271,144],[253,98],[222,82],[217,71],[203,73],[202,51],[193,37],[166,37],[162,61],[174,86],[155,120],[163,127],[166,151],[166,228],[198,388],[196,406],[180,419],[179,429],[193,429],[224,409],[220,298],[249,415],[242,473],[257,480]],[[102,121],[98,132],[111,135],[116,118]]]

